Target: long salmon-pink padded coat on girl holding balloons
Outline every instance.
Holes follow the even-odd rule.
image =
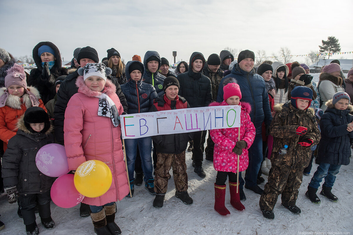
[[[76,80],[78,93],[67,103],[64,119],[64,142],[70,170],[88,160],[100,160],[112,171],[113,181],[108,192],[97,198],[83,199],[83,203],[95,206],[118,201],[129,193],[126,167],[120,139],[120,126],[114,127],[112,120],[98,116],[98,96],[101,92],[90,90],[83,76]],[[103,93],[116,105],[119,114],[123,109],[115,86],[107,80]]]

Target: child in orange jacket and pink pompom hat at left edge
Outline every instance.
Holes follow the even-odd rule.
[[[47,111],[38,90],[27,87],[24,68],[14,64],[7,70],[5,88],[0,90],[0,139],[4,141],[4,151],[8,141],[16,135],[18,119],[32,106],[39,106]]]

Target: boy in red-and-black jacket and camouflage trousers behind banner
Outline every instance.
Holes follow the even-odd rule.
[[[163,97],[158,97],[150,110],[157,112],[172,109],[190,108],[184,97],[178,96],[179,81],[173,76],[164,79]],[[175,185],[175,197],[180,198],[183,203],[192,204],[192,199],[187,193],[187,174],[185,164],[185,150],[192,132],[179,134],[155,135],[152,140],[156,143],[157,163],[155,169],[156,198],[154,207],[162,207],[164,195],[167,192],[170,167],[173,167]]]

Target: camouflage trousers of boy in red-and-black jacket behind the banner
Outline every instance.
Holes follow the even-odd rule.
[[[173,167],[175,189],[179,192],[187,191],[187,174],[185,151],[175,153],[157,152],[154,188],[158,194],[165,194],[168,187],[169,170]]]

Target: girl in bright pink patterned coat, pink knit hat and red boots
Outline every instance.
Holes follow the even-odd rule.
[[[240,103],[241,92],[237,80],[229,78],[224,81],[223,102],[212,103],[215,105],[239,105],[240,112],[240,141],[238,141],[239,128],[213,129],[210,135],[215,143],[213,153],[213,167],[217,170],[215,183],[215,210],[222,216],[229,216],[230,212],[225,207],[226,180],[229,177],[229,190],[231,204],[238,211],[245,210],[237,193],[237,159],[239,156],[239,171],[244,171],[249,164],[248,149],[255,139],[255,127],[250,120],[251,106]]]

